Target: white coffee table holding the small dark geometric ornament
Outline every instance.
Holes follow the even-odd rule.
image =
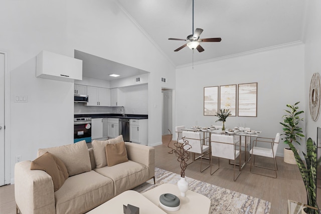
[[[161,208],[152,203],[139,192],[127,190],[111,198],[103,204],[87,212],[87,214],[123,214],[123,205],[131,204],[139,207],[139,214],[166,214]]]

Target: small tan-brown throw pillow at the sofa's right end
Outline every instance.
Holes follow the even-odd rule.
[[[125,142],[106,144],[106,159],[108,166],[128,161]]]

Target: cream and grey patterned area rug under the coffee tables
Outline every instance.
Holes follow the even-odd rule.
[[[156,184],[153,184],[153,180],[150,179],[147,182],[135,187],[133,190],[142,193],[163,183],[176,184],[179,179],[179,174],[164,169],[155,168]],[[193,178],[186,177],[186,179],[190,184],[190,190],[203,194],[211,199],[210,214],[270,213],[271,203],[269,201],[222,188],[200,180],[195,180]]]

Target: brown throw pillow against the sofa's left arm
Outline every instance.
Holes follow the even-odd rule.
[[[54,183],[54,191],[57,191],[68,178],[68,171],[64,162],[49,152],[32,161],[30,169],[47,172]]]

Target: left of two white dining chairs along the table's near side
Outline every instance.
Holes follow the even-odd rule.
[[[210,146],[204,145],[205,138],[201,137],[200,132],[183,131],[182,135],[183,135],[183,138],[189,142],[189,145],[192,146],[192,148],[190,148],[188,150],[189,152],[191,152],[193,154],[192,162],[190,162],[189,164],[193,163],[194,160],[196,160],[195,154],[200,154],[200,156],[198,158],[201,158],[201,172],[203,172],[205,169],[210,167],[211,158],[208,157],[206,159],[209,160],[209,165],[206,168],[202,169],[202,160],[203,160],[203,158],[205,158],[204,156],[205,156],[206,152],[211,151]]]

